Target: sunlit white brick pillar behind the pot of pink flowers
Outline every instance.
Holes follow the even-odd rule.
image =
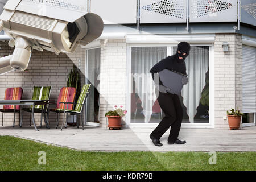
[[[106,127],[106,111],[114,109],[114,105],[123,105],[127,109],[125,39],[102,40],[100,81],[100,126]],[[125,117],[122,124],[125,124]]]

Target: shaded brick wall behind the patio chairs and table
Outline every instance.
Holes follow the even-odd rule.
[[[0,43],[0,56],[9,55],[13,50],[8,46],[7,42]],[[70,58],[69,58],[70,57]],[[81,60],[80,84],[84,84],[84,60],[85,49],[78,48],[74,54],[66,55],[49,51],[33,51],[30,64],[28,65],[28,73],[15,71],[6,73],[0,76],[0,100],[5,97],[5,89],[9,87],[20,86],[23,88],[23,99],[30,100],[34,86],[51,86],[51,102],[56,102],[59,96],[60,88],[67,86],[67,78],[70,69],[73,68],[73,63],[78,65],[78,60]],[[52,106],[54,107],[54,105]],[[2,105],[0,106],[2,108]],[[61,114],[62,115],[62,114]],[[16,115],[16,124],[18,125],[18,114]],[[24,125],[28,125],[30,116],[24,112]],[[35,114],[36,124],[39,125],[40,114]],[[55,113],[51,113],[49,117],[51,125],[55,125]],[[10,126],[13,124],[13,114],[5,113],[4,125]],[[61,120],[60,120],[61,121]],[[61,121],[62,122],[62,121]],[[2,123],[2,115],[1,115]]]

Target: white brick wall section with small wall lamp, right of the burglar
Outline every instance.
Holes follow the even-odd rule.
[[[228,52],[222,43],[228,42]],[[228,127],[223,117],[242,109],[242,40],[239,34],[216,34],[214,42],[214,127]]]

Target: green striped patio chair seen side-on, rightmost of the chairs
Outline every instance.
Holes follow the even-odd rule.
[[[67,127],[67,117],[65,117],[65,114],[69,113],[69,114],[81,114],[82,113],[82,129],[84,130],[84,105],[85,105],[85,101],[86,98],[88,97],[89,94],[89,89],[90,89],[90,85],[91,84],[86,84],[84,86],[82,86],[82,90],[79,96],[79,99],[77,100],[77,102],[60,102],[60,104],[64,104],[64,109],[57,109],[60,112],[64,113],[64,119],[61,125],[61,131],[63,129],[63,124],[64,122],[65,124],[65,128]],[[76,104],[75,109],[68,109],[68,104]],[[77,127],[78,126],[78,122],[77,122]]]

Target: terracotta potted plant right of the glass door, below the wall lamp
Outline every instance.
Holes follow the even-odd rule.
[[[243,113],[241,113],[238,108],[236,111],[231,108],[230,112],[228,110],[226,111],[226,114],[228,115],[229,130],[238,130],[240,127],[241,116],[243,115]]]

